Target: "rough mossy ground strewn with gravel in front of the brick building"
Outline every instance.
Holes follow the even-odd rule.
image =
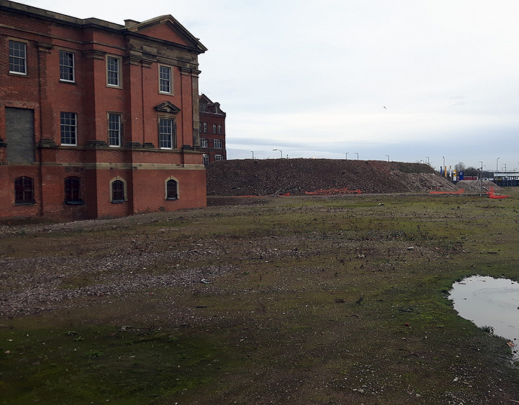
[[[446,299],[471,274],[519,279],[519,193],[506,193],[11,228],[1,305],[59,277],[38,281],[54,291],[41,309],[0,319],[0,403],[517,403],[505,340]]]

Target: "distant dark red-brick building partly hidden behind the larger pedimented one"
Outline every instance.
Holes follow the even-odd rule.
[[[212,102],[206,95],[200,96],[200,147],[203,164],[227,160],[225,151],[225,112],[218,102]]]

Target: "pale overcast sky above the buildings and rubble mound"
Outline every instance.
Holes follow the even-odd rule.
[[[517,0],[18,2],[119,24],[171,14],[208,48],[199,88],[227,113],[229,159],[519,168]]]

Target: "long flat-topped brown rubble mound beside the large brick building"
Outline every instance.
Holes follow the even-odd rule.
[[[240,159],[207,166],[208,195],[304,195],[316,190],[406,193],[456,190],[425,163],[335,159]]]

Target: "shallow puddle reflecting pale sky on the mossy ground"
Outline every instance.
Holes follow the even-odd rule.
[[[477,326],[491,326],[494,335],[513,342],[519,359],[519,283],[509,279],[471,276],[454,283],[449,295],[462,318]]]

